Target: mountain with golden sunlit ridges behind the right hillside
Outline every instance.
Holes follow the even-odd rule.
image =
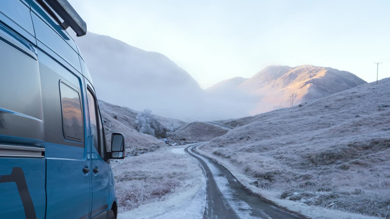
[[[234,100],[254,101],[248,109],[254,115],[289,107],[291,95],[296,105],[366,83],[350,72],[313,65],[271,65],[241,81],[235,78],[222,81],[209,88],[209,92],[229,98],[234,93]]]

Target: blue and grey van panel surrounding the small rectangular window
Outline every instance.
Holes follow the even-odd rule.
[[[85,147],[87,136],[84,133],[79,142],[65,139],[60,96],[60,83],[74,89],[80,95],[83,112],[82,75],[66,69],[41,49],[46,48],[38,49],[46,136],[46,218],[87,219],[92,172],[83,173],[84,167],[90,168],[89,148]],[[84,118],[83,115],[85,129]]]

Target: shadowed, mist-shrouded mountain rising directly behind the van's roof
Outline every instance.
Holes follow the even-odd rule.
[[[75,41],[99,99],[138,111],[149,108],[158,115],[175,118],[189,117],[191,113],[183,115],[182,111],[192,100],[202,99],[197,81],[160,53],[91,32]],[[176,109],[177,105],[182,107]]]

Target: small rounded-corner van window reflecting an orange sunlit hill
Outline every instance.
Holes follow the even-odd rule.
[[[62,127],[65,137],[83,140],[84,129],[80,95],[73,88],[60,82],[60,96]]]

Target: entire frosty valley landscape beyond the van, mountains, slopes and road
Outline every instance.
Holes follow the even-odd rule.
[[[89,35],[106,139],[122,132],[129,154],[112,163],[121,218],[390,218],[389,79],[270,65],[202,89],[160,53]]]

